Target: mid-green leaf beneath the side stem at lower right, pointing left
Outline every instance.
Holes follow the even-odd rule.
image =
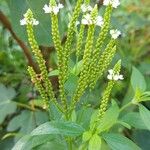
[[[145,126],[145,124],[143,123],[140,117],[139,112],[127,113],[121,118],[121,121],[126,122],[127,124],[137,129],[147,129],[147,127]]]

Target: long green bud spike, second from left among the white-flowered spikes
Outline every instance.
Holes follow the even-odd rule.
[[[55,0],[50,1],[51,6],[56,6]],[[67,111],[67,100],[65,97],[65,89],[64,89],[64,82],[66,79],[66,75],[64,73],[64,64],[63,64],[63,47],[61,46],[59,28],[58,28],[58,17],[57,15],[51,13],[51,21],[52,21],[52,37],[53,42],[57,51],[57,59],[58,59],[58,70],[59,70],[59,92],[60,92],[60,99],[63,105],[64,111]]]

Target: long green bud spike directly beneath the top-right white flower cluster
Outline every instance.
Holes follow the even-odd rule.
[[[102,26],[101,32],[99,33],[98,39],[96,41],[96,47],[94,48],[93,53],[92,53],[92,61],[90,65],[90,74],[91,74],[90,82],[91,83],[93,82],[93,79],[95,79],[96,69],[98,67],[97,63],[100,57],[100,50],[103,46],[104,40],[106,39],[108,30],[109,30],[111,12],[112,12],[112,6],[108,5],[104,14],[104,24]],[[90,85],[90,88],[92,87],[93,86]]]

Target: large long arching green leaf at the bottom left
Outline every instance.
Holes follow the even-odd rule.
[[[32,138],[48,136],[48,135],[64,135],[64,136],[79,136],[84,132],[84,129],[73,122],[52,121],[46,122],[36,129],[31,134],[22,137],[13,147],[12,150],[26,150],[26,146]],[[48,136],[49,137],[49,136]],[[43,138],[44,139],[44,138]]]

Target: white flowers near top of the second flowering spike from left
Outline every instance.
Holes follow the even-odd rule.
[[[55,15],[57,15],[59,10],[63,7],[64,7],[63,4],[60,4],[60,3],[56,6],[51,6],[51,5],[48,6],[47,4],[45,4],[43,7],[43,10],[45,11],[45,13],[53,12]]]

